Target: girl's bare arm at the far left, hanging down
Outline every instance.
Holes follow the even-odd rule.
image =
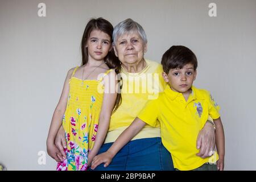
[[[62,118],[67,106],[68,93],[69,93],[68,81],[72,75],[73,70],[74,68],[68,71],[59,103],[57,104],[52,116],[51,126],[49,127],[49,133],[47,137],[47,152],[49,156],[51,156],[53,159],[56,160],[56,162],[60,162],[60,160],[61,161],[63,160],[63,155],[61,154],[60,150],[55,146],[54,141],[55,141],[57,132],[59,131],[59,128],[61,126]]]

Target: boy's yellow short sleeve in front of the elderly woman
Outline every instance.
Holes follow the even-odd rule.
[[[142,111],[138,114],[138,118],[147,123],[152,127],[157,127],[158,122],[158,100],[149,100],[146,106],[142,109]]]

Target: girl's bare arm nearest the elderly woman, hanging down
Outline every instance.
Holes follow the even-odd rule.
[[[96,135],[96,140],[92,150],[89,152],[88,165],[92,162],[94,156],[98,154],[102,143],[105,140],[106,134],[109,129],[110,117],[115,105],[115,100],[117,98],[117,92],[115,90],[115,85],[117,85],[117,80],[115,79],[115,72],[111,71],[107,76],[104,77],[104,98],[101,106],[100,119],[98,121],[98,131]]]

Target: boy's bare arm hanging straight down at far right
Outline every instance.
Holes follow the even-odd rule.
[[[223,171],[224,169],[224,156],[225,156],[225,135],[224,129],[221,122],[221,118],[213,119],[213,122],[216,126],[216,146],[217,152],[219,156],[219,160],[217,162],[218,170]]]

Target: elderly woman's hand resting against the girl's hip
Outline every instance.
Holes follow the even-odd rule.
[[[67,148],[67,142],[65,138],[65,131],[63,129],[63,126],[60,126],[60,129],[56,135],[55,138],[55,146],[59,149],[60,151],[60,157],[63,159],[67,159],[67,156],[64,152],[64,148]]]

